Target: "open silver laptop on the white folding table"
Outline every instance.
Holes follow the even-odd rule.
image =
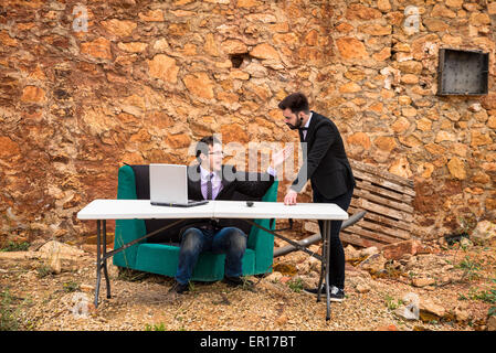
[[[208,201],[188,200],[186,165],[150,163],[150,203],[157,206],[190,207]]]

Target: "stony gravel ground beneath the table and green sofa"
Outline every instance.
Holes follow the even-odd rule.
[[[46,268],[43,259],[0,258],[2,329],[486,330],[487,312],[494,303],[482,293],[487,295],[495,289],[495,248],[472,246],[469,253],[452,248],[440,254],[415,256],[416,267],[412,265],[412,257],[407,258],[403,264],[410,266],[410,274],[414,271],[436,279],[434,285],[425,287],[414,287],[409,278],[401,276],[378,278],[360,265],[353,267],[347,263],[347,297],[344,302],[331,304],[331,320],[327,322],[325,300],[317,302],[315,297],[300,290],[302,284],[312,285],[318,279],[318,264],[303,253],[276,259],[275,268],[282,274],[251,277],[255,282],[253,288],[194,282],[191,291],[182,296],[168,293],[173,282],[171,278],[139,272],[119,276],[118,269],[110,265],[112,298],[106,298],[105,280],[102,280],[97,309],[93,306],[94,254],[84,253],[63,261],[62,271],[56,275],[42,271]],[[467,258],[479,266],[467,271],[466,267],[458,265]],[[419,320],[401,318],[395,312],[405,307],[407,302],[401,300],[409,292],[416,295],[421,302],[441,306],[445,313],[443,317],[424,314]]]

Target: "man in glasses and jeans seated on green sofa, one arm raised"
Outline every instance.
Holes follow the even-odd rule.
[[[188,199],[231,200],[238,191],[249,196],[263,196],[274,182],[275,168],[289,156],[291,148],[274,154],[267,174],[249,176],[236,172],[232,165],[222,164],[222,145],[213,137],[202,138],[197,145],[199,164],[188,168]],[[224,281],[231,286],[243,285],[241,278],[247,236],[240,228],[229,226],[229,220],[191,220],[181,229],[179,264],[176,284],[170,292],[183,293],[189,290],[198,257],[202,252],[225,254]]]

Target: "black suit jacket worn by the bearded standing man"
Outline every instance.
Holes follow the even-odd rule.
[[[325,116],[313,111],[306,138],[299,130],[302,148],[305,148],[304,165],[291,186],[299,192],[307,180],[326,199],[334,199],[355,186],[355,178],[346,156],[341,135],[336,125]]]

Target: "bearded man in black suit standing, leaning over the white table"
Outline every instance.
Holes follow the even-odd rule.
[[[338,128],[329,118],[312,111],[308,99],[302,93],[291,94],[278,107],[283,110],[286,125],[292,130],[298,129],[299,140],[307,148],[304,165],[287,190],[284,203],[296,204],[298,193],[309,179],[314,202],[335,203],[347,211],[353,194],[355,178]],[[318,223],[323,234],[323,222]],[[330,225],[329,288],[333,301],[345,298],[345,250],[339,239],[341,223],[333,221]],[[316,295],[318,288],[305,291]]]

